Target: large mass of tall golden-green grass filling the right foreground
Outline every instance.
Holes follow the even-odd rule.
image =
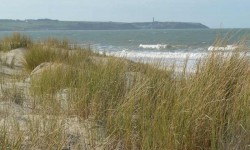
[[[175,77],[173,70],[146,65],[130,72],[111,59],[93,68],[61,70],[65,79],[42,76],[37,86],[51,88],[58,81],[64,87],[55,89],[69,87],[70,114],[95,117],[105,126],[112,141],[108,149],[119,144],[124,149],[245,149],[249,65],[239,52],[214,52],[197,64],[196,73]],[[52,84],[45,84],[48,79]],[[128,80],[133,80],[129,88]]]

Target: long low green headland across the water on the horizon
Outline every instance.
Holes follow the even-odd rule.
[[[201,23],[192,22],[89,22],[59,21],[51,19],[11,20],[0,19],[0,31],[33,30],[136,30],[136,29],[208,29]]]

